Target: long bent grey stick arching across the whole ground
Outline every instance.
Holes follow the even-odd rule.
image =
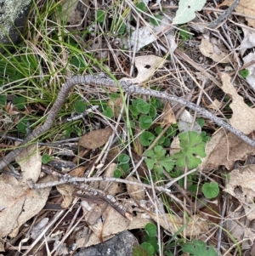
[[[48,116],[45,122],[42,124],[42,126],[32,131],[32,133],[29,134],[26,137],[26,139],[23,140],[19,148],[9,152],[8,155],[4,156],[2,161],[0,161],[0,172],[3,172],[3,169],[6,168],[10,162],[13,162],[16,156],[20,155],[20,152],[26,147],[26,144],[31,143],[32,140],[37,139],[37,137],[46,133],[48,129],[52,127],[61,106],[64,104],[65,100],[68,97],[69,92],[71,91],[71,88],[76,84],[87,84],[87,85],[90,84],[95,86],[104,86],[106,88],[107,87],[122,88],[122,90],[127,94],[149,95],[162,100],[179,103],[181,105],[184,105],[190,108],[190,110],[192,111],[199,112],[203,117],[206,117],[212,120],[213,122],[218,124],[218,126],[225,128],[229,132],[235,134],[237,137],[245,141],[247,144],[255,147],[254,140],[248,138],[245,134],[242,134],[241,131],[233,128],[228,122],[225,122],[224,120],[218,117],[215,117],[211,112],[201,108],[198,105],[195,105],[194,103],[188,100],[184,100],[177,96],[172,96],[165,92],[159,92],[149,88],[142,88],[142,87],[139,87],[138,85],[134,85],[131,82],[125,82],[125,81],[117,82],[112,80],[109,77],[105,77],[104,74],[99,74],[96,76],[74,76],[74,77],[71,77],[69,80],[67,80],[67,82],[65,82],[62,88],[60,88],[58,97],[55,100],[54,105],[52,106],[52,109],[49,111]]]

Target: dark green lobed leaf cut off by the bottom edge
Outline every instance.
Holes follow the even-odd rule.
[[[184,253],[190,253],[192,256],[218,256],[218,253],[212,247],[212,245],[207,249],[207,244],[196,239],[192,239],[192,242],[187,242],[182,245],[182,250]]]

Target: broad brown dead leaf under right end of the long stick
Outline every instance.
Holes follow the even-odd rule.
[[[254,155],[255,148],[247,145],[246,142],[239,139],[235,134],[218,131],[212,135],[212,139],[206,145],[206,158],[202,159],[200,168],[203,171],[218,169],[223,165],[227,169],[234,167],[235,161],[245,160],[246,156]]]

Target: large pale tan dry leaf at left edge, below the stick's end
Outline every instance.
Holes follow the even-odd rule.
[[[22,179],[2,174],[0,176],[0,237],[17,235],[20,225],[26,223],[44,207],[50,187],[42,190],[30,190],[26,179],[37,182],[41,173],[41,156],[36,145],[31,145],[23,151],[16,161],[20,164]],[[41,182],[50,181],[46,177]]]

